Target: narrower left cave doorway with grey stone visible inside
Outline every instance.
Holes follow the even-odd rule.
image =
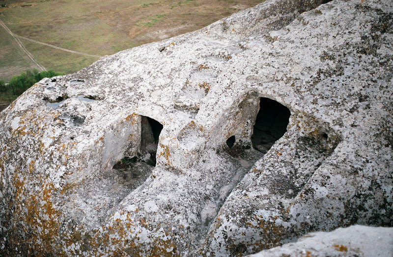
[[[163,125],[155,119],[141,116],[140,154],[142,161],[156,166],[158,139]]]

